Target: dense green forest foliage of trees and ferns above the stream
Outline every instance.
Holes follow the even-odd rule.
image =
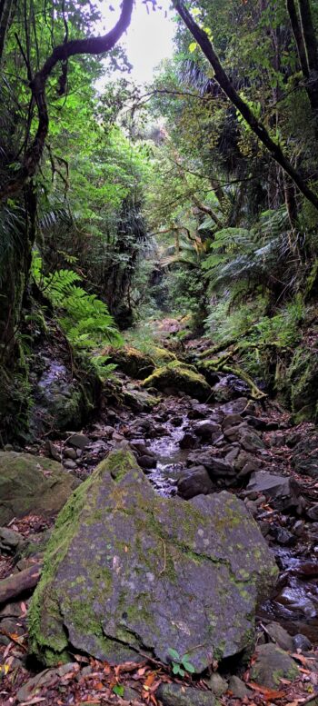
[[[34,77],[56,46],[94,35],[100,12],[85,2],[1,5],[4,370],[12,359],[15,375],[25,370],[25,316],[46,299],[69,344],[95,357],[120,343],[116,327],[191,313],[194,333],[216,343],[244,334],[242,361],[256,377],[260,351],[292,350],[313,317],[318,3],[186,5],[194,27],[175,2],[174,56],[146,88],[131,82],[118,45],[106,61],[86,45],[71,59],[65,49],[45,76],[49,124],[37,155]],[[31,154],[38,164],[21,179]]]

